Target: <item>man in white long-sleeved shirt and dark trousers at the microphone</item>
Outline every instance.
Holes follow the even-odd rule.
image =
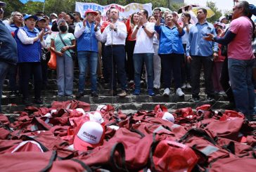
[[[110,95],[116,95],[117,79],[120,81],[122,92],[120,97],[127,95],[127,77],[124,67],[125,60],[125,39],[127,29],[123,22],[118,21],[119,12],[117,9],[110,9],[110,24],[105,27],[102,33],[102,42],[105,43],[106,60],[108,61],[107,69],[110,79]]]

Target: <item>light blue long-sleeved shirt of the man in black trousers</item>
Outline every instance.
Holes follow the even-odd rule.
[[[186,56],[212,56],[213,51],[218,52],[218,44],[213,41],[206,41],[203,37],[207,34],[214,34],[216,36],[215,27],[209,22],[202,25],[197,22],[193,25],[188,33],[188,41],[186,43]]]

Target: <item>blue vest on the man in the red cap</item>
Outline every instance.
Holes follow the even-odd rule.
[[[78,23],[79,27],[82,27],[83,23]],[[77,51],[95,51],[98,53],[98,41],[95,36],[94,23],[87,21],[87,27],[85,27],[84,33],[77,39]]]

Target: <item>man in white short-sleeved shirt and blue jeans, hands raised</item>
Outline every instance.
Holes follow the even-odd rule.
[[[141,67],[143,63],[146,64],[146,70],[148,74],[148,95],[154,96],[153,92],[153,35],[155,33],[155,23],[148,22],[148,11],[145,9],[138,12],[139,24],[134,27],[132,32],[132,39],[136,38],[136,44],[134,47],[134,83],[135,91],[134,95],[141,93]]]

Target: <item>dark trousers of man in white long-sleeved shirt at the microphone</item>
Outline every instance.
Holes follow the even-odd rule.
[[[108,78],[110,79],[110,89],[117,88],[116,72],[118,81],[120,81],[122,90],[127,89],[127,78],[124,67],[125,50],[124,46],[106,46],[106,60],[108,69]]]

